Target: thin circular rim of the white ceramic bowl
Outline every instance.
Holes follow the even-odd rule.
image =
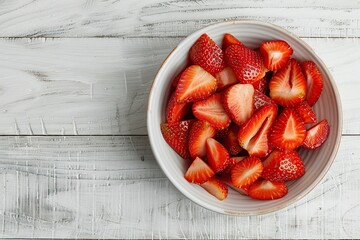
[[[243,24],[244,25],[246,24],[246,25],[265,26],[265,27],[272,28],[272,29],[275,29],[277,31],[280,31],[280,32],[284,33],[285,35],[289,35],[290,37],[294,38],[296,41],[301,43],[307,51],[311,52],[316,57],[317,61],[322,65],[322,68],[323,68],[325,74],[329,78],[331,88],[334,91],[334,95],[335,95],[335,100],[336,100],[336,105],[337,105],[336,107],[338,108],[338,112],[339,112],[339,114],[337,116],[338,128],[336,129],[336,132],[339,133],[339,134],[337,134],[337,136],[336,136],[335,145],[334,145],[333,151],[332,151],[332,153],[330,155],[330,159],[326,163],[325,167],[322,169],[320,174],[317,176],[317,178],[304,191],[302,191],[301,193],[299,193],[297,196],[290,199],[286,203],[274,206],[274,207],[272,207],[270,209],[266,209],[266,210],[262,210],[262,211],[252,211],[252,212],[228,211],[228,210],[225,210],[225,209],[222,209],[222,208],[214,207],[212,205],[209,205],[207,203],[202,202],[201,199],[193,197],[193,195],[191,195],[189,192],[184,191],[179,186],[177,181],[172,177],[172,175],[169,174],[169,172],[165,169],[162,162],[159,161],[160,156],[159,156],[158,151],[156,150],[156,141],[153,138],[151,129],[148,127],[148,126],[151,125],[151,122],[152,122],[151,103],[152,103],[152,99],[154,97],[153,89],[154,89],[154,86],[157,84],[157,82],[160,81],[159,80],[159,75],[164,71],[163,66],[164,66],[165,63],[167,63],[169,61],[171,56],[178,49],[182,48],[182,46],[186,43],[187,39],[191,38],[194,35],[201,34],[201,33],[206,33],[207,30],[215,28],[215,27],[221,27],[221,26],[226,26],[226,25],[243,25]],[[284,28],[282,28],[280,26],[277,26],[277,25],[272,24],[272,23],[258,21],[258,20],[232,20],[232,21],[218,22],[218,23],[207,25],[206,27],[198,29],[198,30],[194,31],[193,33],[189,34],[187,37],[185,37],[184,39],[182,39],[180,41],[180,43],[169,53],[169,55],[165,58],[163,63],[160,65],[159,70],[157,71],[157,74],[156,74],[156,76],[155,76],[155,78],[154,78],[154,80],[152,82],[152,85],[151,85],[151,88],[150,88],[150,94],[149,94],[149,98],[148,98],[148,106],[147,106],[147,132],[148,132],[148,138],[150,140],[151,150],[152,150],[152,152],[153,152],[153,154],[155,156],[155,159],[156,159],[157,163],[159,164],[160,168],[165,173],[166,177],[170,180],[170,182],[176,187],[176,189],[179,190],[182,194],[184,194],[191,201],[195,202],[196,204],[200,205],[201,207],[204,207],[204,208],[209,209],[211,211],[221,213],[221,214],[225,214],[225,215],[251,216],[251,215],[263,215],[263,214],[267,214],[267,213],[272,213],[272,212],[278,211],[280,209],[283,209],[285,207],[288,207],[288,206],[292,205],[293,203],[299,201],[303,197],[305,197],[309,192],[311,192],[322,181],[322,179],[328,173],[331,165],[333,164],[333,162],[335,160],[335,157],[336,157],[336,155],[338,153],[338,150],[339,150],[341,137],[342,137],[342,128],[343,128],[343,111],[342,111],[342,104],[341,104],[340,94],[339,94],[339,91],[337,89],[337,86],[336,86],[336,83],[335,83],[335,80],[334,80],[332,74],[330,73],[329,69],[327,68],[325,63],[322,61],[322,59],[316,54],[316,52],[310,47],[310,45],[307,44],[300,37],[296,36],[295,34],[291,33],[290,31],[288,31],[288,30],[286,30],[286,29],[284,29]]]

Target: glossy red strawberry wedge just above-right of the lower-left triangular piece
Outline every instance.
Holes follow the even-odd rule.
[[[206,156],[214,172],[223,171],[230,163],[229,153],[226,148],[213,138],[206,140]]]

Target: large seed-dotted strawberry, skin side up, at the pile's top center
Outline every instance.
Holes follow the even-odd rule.
[[[225,51],[225,60],[241,83],[253,83],[265,76],[261,56],[250,48],[231,45]]]

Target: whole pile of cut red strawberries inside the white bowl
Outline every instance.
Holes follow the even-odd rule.
[[[222,48],[207,34],[194,43],[161,124],[165,141],[189,160],[187,181],[220,200],[228,186],[270,200],[305,174],[299,148],[321,146],[330,127],[312,109],[323,89],[320,71],[292,53],[282,40],[254,50],[231,34]]]

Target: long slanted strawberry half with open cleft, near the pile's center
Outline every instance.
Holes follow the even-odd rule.
[[[277,105],[259,108],[239,129],[238,141],[250,156],[265,157],[271,151],[268,135],[277,116]]]

